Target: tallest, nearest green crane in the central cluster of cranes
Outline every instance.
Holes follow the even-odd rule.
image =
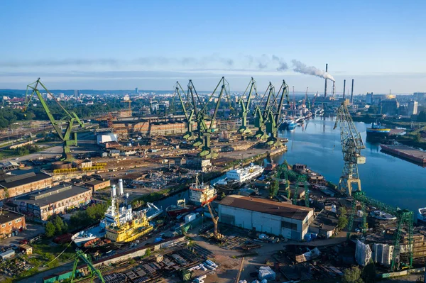
[[[206,111],[207,111],[207,106],[209,104],[209,101],[212,101],[214,94],[216,93],[217,89],[219,89],[219,86],[221,84],[222,84],[222,87],[220,89],[219,96],[217,97],[217,103],[216,103],[216,106],[214,108],[213,116],[212,116],[212,118],[209,118],[210,125],[207,126],[207,123],[206,123],[207,117],[205,116],[204,113],[206,113]],[[216,124],[217,111],[219,110],[220,100],[222,99],[222,95],[224,93],[229,98],[229,83],[228,83],[228,81],[226,81],[226,79],[224,77],[222,77],[222,79],[220,79],[216,88],[212,92],[212,94],[209,96],[207,103],[204,104],[204,107],[201,109],[201,111],[198,111],[197,126],[200,127],[200,137],[202,137],[202,140],[203,140],[201,152],[200,152],[200,157],[202,157],[204,159],[210,159],[210,158],[217,157],[217,153],[214,152],[212,150],[212,148],[210,147],[210,138],[211,138],[212,133],[214,133],[214,131],[216,130],[214,128],[214,126]]]

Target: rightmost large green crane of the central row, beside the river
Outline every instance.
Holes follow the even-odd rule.
[[[278,107],[274,109],[273,106],[275,105],[278,96],[280,96],[280,103],[278,104]],[[288,98],[288,85],[283,79],[283,84],[281,84],[278,95],[273,99],[273,102],[268,109],[268,113],[266,114],[266,133],[268,134],[266,144],[273,148],[283,145],[283,143],[281,143],[278,139],[278,126],[280,124],[281,112],[283,111],[284,96],[287,98],[287,104],[290,104],[290,99]]]

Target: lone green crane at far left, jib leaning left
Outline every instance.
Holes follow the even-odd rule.
[[[60,106],[62,111],[64,111],[65,116],[63,116],[59,121],[56,121],[53,117],[52,113],[50,112],[50,109],[48,107],[48,104],[46,104],[45,100],[43,99],[43,96],[41,96],[40,91],[38,90],[38,86],[43,87],[43,89],[52,97],[52,99]],[[33,82],[32,84],[28,84],[26,89],[26,106],[24,108],[24,111],[28,108],[28,105],[31,102],[31,99],[33,99],[34,94],[38,96],[38,100],[40,100],[41,105],[43,106],[43,109],[45,113],[48,115],[50,123],[52,124],[53,128],[55,129],[56,134],[62,140],[62,159],[63,161],[72,161],[74,158],[72,157],[70,146],[77,145],[77,133],[72,134],[72,126],[75,122],[80,124],[82,128],[84,128],[84,123],[80,121],[80,118],[78,118],[77,114],[74,112],[68,112],[67,109],[65,109],[58,101],[58,99],[53,96],[53,94],[48,91],[48,89],[44,86],[42,82],[40,82],[40,78],[37,79],[37,81]],[[67,123],[67,128],[65,128],[65,133],[62,133],[62,123]]]

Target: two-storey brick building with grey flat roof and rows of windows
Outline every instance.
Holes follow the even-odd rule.
[[[18,211],[33,221],[47,221],[50,216],[62,214],[88,204],[92,199],[92,189],[62,184],[15,199]]]

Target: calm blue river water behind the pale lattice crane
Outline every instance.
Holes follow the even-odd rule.
[[[333,130],[334,118],[315,118],[305,121],[305,126],[295,131],[280,131],[280,137],[288,138],[288,152],[274,157],[275,162],[306,164],[333,182],[339,183],[343,169],[342,146],[339,128]],[[366,164],[359,165],[361,187],[366,194],[379,201],[401,209],[417,211],[426,206],[426,169],[387,155],[376,143],[366,142],[366,127],[356,123],[366,144],[361,154]]]

